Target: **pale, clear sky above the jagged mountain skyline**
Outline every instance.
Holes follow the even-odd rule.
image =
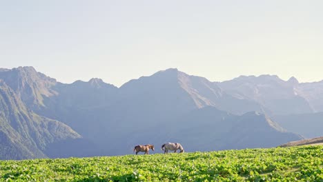
[[[0,68],[120,86],[159,70],[323,79],[323,1],[0,1]]]

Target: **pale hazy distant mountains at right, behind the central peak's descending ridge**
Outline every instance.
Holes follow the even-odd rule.
[[[323,81],[298,83],[294,77],[283,81],[277,76],[262,75],[216,84],[234,97],[260,103],[266,114],[289,132],[306,138],[323,136]]]

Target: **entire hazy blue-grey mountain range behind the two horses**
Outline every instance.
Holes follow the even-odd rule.
[[[168,141],[188,152],[268,148],[323,135],[323,81],[213,82],[171,68],[117,88],[19,67],[0,69],[0,112],[0,159],[131,154]]]

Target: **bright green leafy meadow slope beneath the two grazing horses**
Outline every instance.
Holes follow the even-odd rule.
[[[0,161],[0,181],[322,181],[323,146]]]

